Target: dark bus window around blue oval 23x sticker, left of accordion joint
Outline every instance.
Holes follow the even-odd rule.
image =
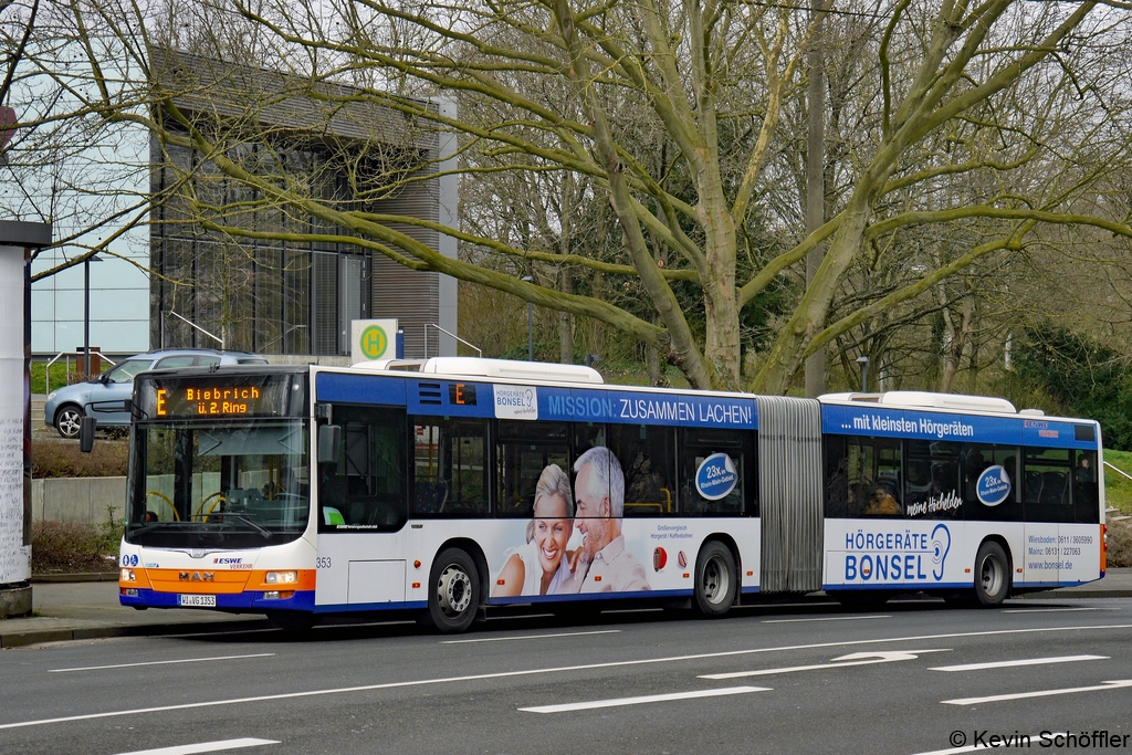
[[[678,446],[679,511],[685,516],[757,516],[755,497],[754,432],[749,430],[715,430],[685,428]],[[701,465],[717,454],[726,454],[735,470],[735,488],[727,496],[711,499],[701,495],[696,484]],[[723,469],[723,467],[720,467]],[[710,486],[709,486],[710,491]]]

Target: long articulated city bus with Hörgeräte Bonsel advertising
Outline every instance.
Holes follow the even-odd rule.
[[[1105,572],[1100,428],[997,398],[437,358],[143,374],[132,418],[119,586],[139,609],[461,632],[513,604],[997,606]]]

